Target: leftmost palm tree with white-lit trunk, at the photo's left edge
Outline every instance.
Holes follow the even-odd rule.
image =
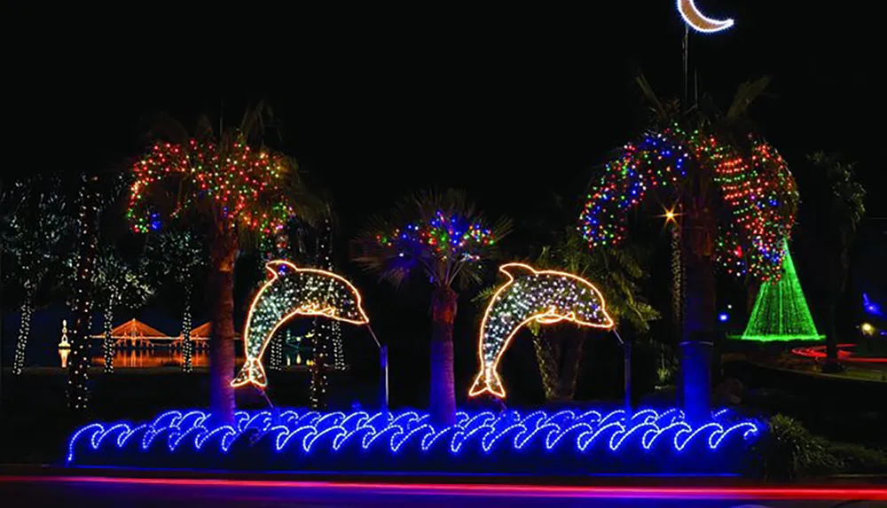
[[[19,337],[12,361],[12,373],[18,376],[25,363],[37,289],[51,270],[61,266],[63,242],[71,237],[74,223],[56,185],[45,188],[34,179],[19,181],[4,192],[4,201],[7,209],[0,234],[7,267],[4,283],[15,283],[21,294]]]

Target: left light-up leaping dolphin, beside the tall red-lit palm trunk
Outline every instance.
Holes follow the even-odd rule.
[[[247,363],[231,385],[268,386],[262,355],[274,332],[294,316],[323,316],[351,324],[369,324],[357,288],[326,270],[297,268],[287,261],[272,261],[265,268],[274,277],[255,295],[244,327]]]

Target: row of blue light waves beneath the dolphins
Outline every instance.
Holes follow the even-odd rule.
[[[255,467],[263,470],[332,465],[376,471],[412,460],[411,470],[445,464],[447,470],[459,471],[476,467],[478,461],[501,465],[503,459],[511,464],[509,470],[530,473],[550,472],[554,459],[563,471],[612,472],[611,460],[588,458],[602,453],[637,459],[619,461],[620,471],[711,473],[707,458],[719,457],[718,465],[726,468],[722,471],[733,471],[744,454],[724,454],[749,449],[765,429],[754,420],[736,421],[726,411],[693,426],[676,409],[645,409],[628,416],[624,410],[459,411],[454,425],[439,427],[428,414],[415,411],[282,410],[279,416],[268,410],[237,411],[235,421],[233,426],[219,425],[207,412],[190,410],[168,411],[143,425],[93,423],[71,436],[67,464],[145,465],[153,459],[164,467],[187,467],[207,460],[218,466],[222,459],[243,467],[250,457],[258,457]],[[278,459],[281,454],[286,458]],[[315,455],[334,462],[318,461]]]

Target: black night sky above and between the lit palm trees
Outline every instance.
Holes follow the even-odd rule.
[[[7,170],[125,167],[144,147],[140,120],[149,113],[169,111],[186,124],[197,113],[238,121],[247,101],[265,98],[283,133],[269,143],[294,155],[310,181],[333,194],[341,253],[367,215],[428,185],[465,188],[487,215],[509,215],[520,230],[549,213],[553,193],[574,199],[584,191],[608,152],[643,128],[647,106],[632,83],[639,70],[660,97],[681,93],[683,25],[674,2],[598,4],[372,4],[359,12],[287,14],[286,29],[255,37],[225,25],[196,35],[170,22],[149,30],[162,41],[137,51],[125,42],[145,42],[139,34],[147,28],[86,50],[67,31],[44,27],[42,43],[52,51],[39,58],[16,53],[8,64],[18,72],[7,74],[17,89],[7,98],[31,155]],[[712,18],[736,20],[726,33],[691,34],[700,93],[726,109],[740,82],[772,76],[752,118],[789,168],[808,152],[841,152],[859,162],[868,215],[887,215],[878,136],[883,86],[875,81],[883,63],[875,46],[883,37],[872,6],[696,4]],[[526,254],[525,239],[515,234],[506,247]],[[360,284],[374,284],[354,265],[345,270]],[[421,287],[408,293],[422,291],[427,296]],[[413,345],[401,338],[392,369],[404,372],[412,361],[424,368],[427,300],[388,288],[373,292],[378,300],[369,311],[380,316],[380,336],[416,336]],[[401,324],[392,304],[419,319]],[[471,308],[468,301],[460,306]],[[475,336],[474,310],[466,313],[457,340]],[[457,376],[467,384],[474,340],[457,348]],[[412,378],[392,382],[398,380]],[[420,396],[404,394],[402,402]]]

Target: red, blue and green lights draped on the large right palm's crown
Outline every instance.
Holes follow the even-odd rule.
[[[713,135],[687,133],[677,126],[625,145],[586,196],[580,231],[593,247],[621,242],[625,213],[650,194],[663,199],[663,205],[680,202],[687,170],[695,166],[710,172],[724,205],[717,217],[716,259],[729,273],[761,280],[779,277],[797,190],[771,145],[754,138],[749,145],[749,154],[742,155]]]

